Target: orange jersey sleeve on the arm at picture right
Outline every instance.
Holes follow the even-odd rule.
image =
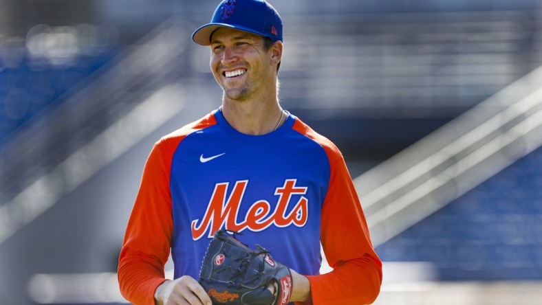
[[[333,271],[307,276],[312,302],[318,305],[371,304],[380,293],[382,262],[373,249],[354,183],[338,148],[310,130],[304,132],[323,146],[331,166],[320,238]]]

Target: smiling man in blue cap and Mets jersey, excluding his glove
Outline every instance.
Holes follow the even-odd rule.
[[[211,304],[199,269],[213,233],[230,229],[290,267],[291,302],[372,303],[382,265],[345,161],[279,104],[277,11],[262,0],[224,0],[193,41],[210,45],[222,104],[153,147],[120,253],[124,297]],[[320,245],[334,268],[324,275]],[[164,279],[170,251],[175,280]]]

